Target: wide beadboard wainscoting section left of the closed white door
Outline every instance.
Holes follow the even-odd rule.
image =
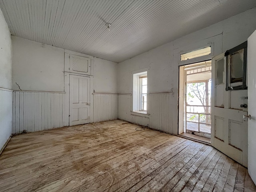
[[[64,120],[64,92],[14,91],[12,133],[68,126]]]

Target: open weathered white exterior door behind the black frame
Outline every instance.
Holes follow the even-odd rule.
[[[226,57],[212,59],[211,144],[243,166],[248,165],[247,90],[226,91]]]

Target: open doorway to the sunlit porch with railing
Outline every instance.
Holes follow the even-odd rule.
[[[180,66],[179,133],[210,143],[212,61]]]

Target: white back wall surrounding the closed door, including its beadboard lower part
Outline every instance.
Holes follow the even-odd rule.
[[[117,63],[115,62],[93,58],[92,56],[86,56],[16,36],[12,36],[12,42],[12,89],[19,91],[19,85],[22,91],[30,91],[27,93],[14,92],[15,102],[13,103],[13,111],[15,117],[13,118],[13,133],[20,133],[23,130],[33,132],[68,125],[69,85],[67,77],[64,84],[64,63],[66,62],[67,64],[67,72],[69,58],[65,60],[65,52],[91,58],[91,80],[94,82],[91,93],[93,90],[97,93],[117,93]],[[65,75],[69,76],[69,74]],[[38,93],[42,91],[65,91],[66,94],[63,94],[62,97],[62,93],[54,93],[54,95],[59,96],[54,97],[54,100],[49,100],[46,95],[50,93]],[[97,114],[96,120],[106,120],[106,118],[109,119],[112,117],[116,119],[118,112],[117,96],[113,97],[116,98],[116,100],[112,99],[111,102],[108,102],[108,95],[103,95],[102,97],[102,99],[106,100],[108,103],[107,106],[102,105],[102,107],[111,114],[108,114],[107,117],[103,116],[101,113],[102,109],[94,107],[94,103],[91,102],[92,109],[97,110],[94,112]],[[31,103],[35,102],[36,107],[27,102],[29,98],[32,100]],[[54,101],[54,103],[52,101]],[[102,103],[100,102],[100,104]],[[63,112],[63,116],[57,113],[58,110],[54,111],[52,108],[44,110],[45,107],[42,107],[49,105],[53,105],[54,109],[60,108]],[[40,114],[42,114],[42,116]],[[34,118],[32,118],[33,116]],[[30,120],[31,118],[34,120]],[[48,121],[48,119],[53,120],[53,122],[51,124],[43,124],[43,122]]]

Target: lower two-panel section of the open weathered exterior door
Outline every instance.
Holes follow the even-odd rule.
[[[215,108],[214,114],[214,147],[247,166],[247,112]]]

